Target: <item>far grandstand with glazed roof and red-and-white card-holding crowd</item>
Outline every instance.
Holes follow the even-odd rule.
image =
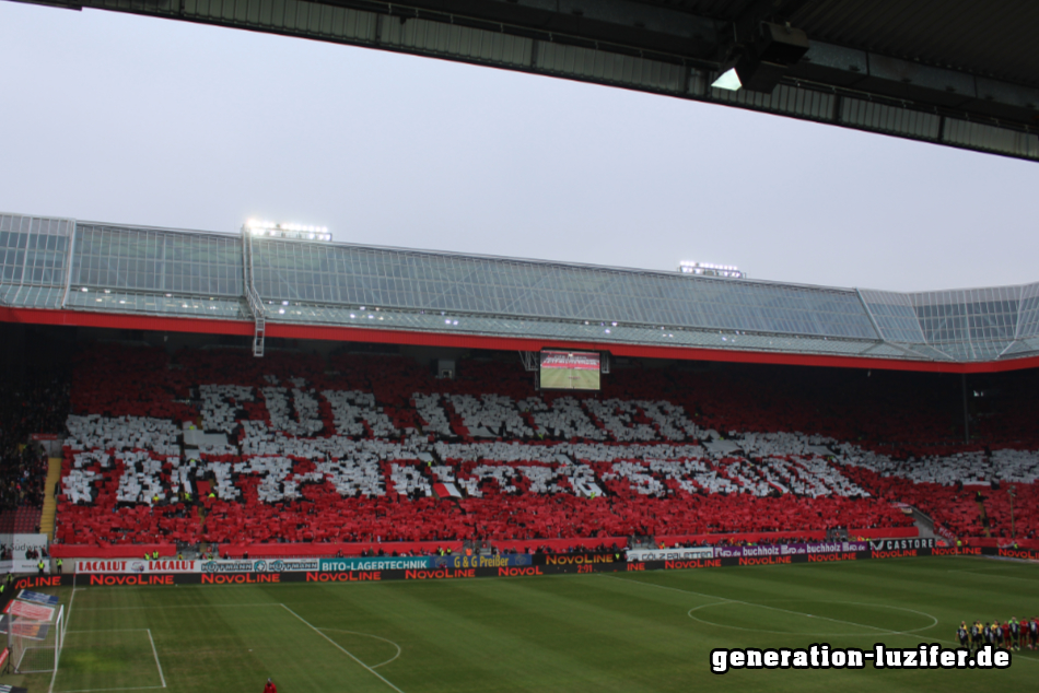
[[[19,215],[0,234],[11,356],[71,354],[68,419],[33,431],[63,438],[55,555],[1039,529],[1039,284],[896,294]],[[550,348],[600,356],[602,389],[539,389]]]

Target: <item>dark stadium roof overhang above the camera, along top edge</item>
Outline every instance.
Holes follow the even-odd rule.
[[[458,60],[1039,160],[1039,3],[1030,0],[26,1]],[[762,22],[804,31],[807,54],[782,66],[774,89],[713,89],[739,56],[763,55]]]

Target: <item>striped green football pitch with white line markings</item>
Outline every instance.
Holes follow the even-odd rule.
[[[732,670],[717,647],[953,646],[961,620],[1039,613],[1039,566],[903,559],[521,578],[85,587],[30,691],[279,693],[1034,690],[1008,669]],[[984,689],[981,689],[984,690]]]

